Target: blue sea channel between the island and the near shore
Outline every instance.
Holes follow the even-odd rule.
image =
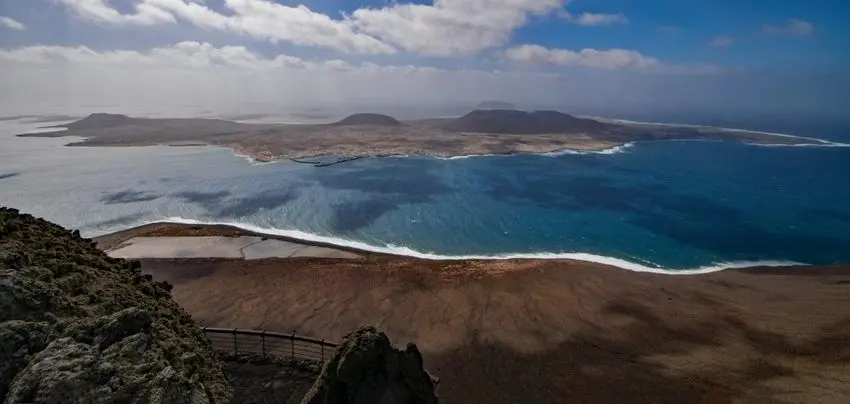
[[[645,142],[330,167],[14,137],[36,126],[0,122],[0,204],[88,236],[168,220],[426,258],[570,257],[680,273],[850,262],[850,125],[793,129],[832,147]]]

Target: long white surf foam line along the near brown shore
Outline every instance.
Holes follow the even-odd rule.
[[[151,220],[148,222],[144,222],[143,224],[152,224],[152,223],[179,223],[179,224],[190,224],[190,225],[224,225],[224,226],[233,226],[242,230],[247,230],[255,233],[261,234],[270,234],[276,236],[283,236],[297,240],[304,240],[306,242],[314,242],[314,243],[323,243],[330,244],[339,247],[353,248],[361,251],[370,251],[376,253],[383,254],[392,254],[392,255],[403,255],[407,257],[414,257],[420,259],[427,260],[509,260],[509,259],[540,259],[540,260],[556,260],[556,259],[570,259],[576,261],[585,261],[592,262],[595,264],[609,265],[618,267],[621,269],[626,269],[634,272],[649,272],[656,274],[666,274],[666,275],[696,275],[696,274],[706,274],[711,272],[723,271],[726,269],[740,269],[740,268],[750,268],[750,267],[784,267],[784,266],[795,266],[795,265],[807,265],[800,262],[794,261],[775,261],[775,260],[763,260],[763,261],[732,261],[732,262],[719,262],[711,265],[701,266],[698,268],[690,268],[690,269],[667,269],[667,268],[658,268],[651,267],[646,265],[641,265],[635,262],[627,261],[620,258],[614,257],[606,257],[603,255],[595,255],[589,253],[576,253],[576,252],[560,252],[560,253],[506,253],[506,254],[498,254],[498,255],[440,255],[429,252],[421,252],[416,251],[409,247],[404,246],[396,246],[393,244],[387,244],[385,246],[374,246],[371,244],[366,244],[360,241],[347,240],[337,237],[328,237],[321,236],[318,234],[312,234],[303,232],[300,230],[285,230],[285,229],[276,229],[276,228],[268,228],[256,226],[248,223],[235,223],[235,222],[217,222],[217,221],[202,221],[196,219],[186,219],[182,217],[166,217],[161,220]]]

